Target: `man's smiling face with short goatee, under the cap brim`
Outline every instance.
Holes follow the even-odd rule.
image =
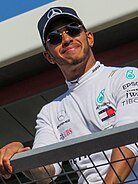
[[[60,33],[61,40],[57,44],[52,44],[47,40],[47,48],[55,63],[60,67],[76,65],[85,62],[88,58],[89,45],[93,36],[90,32],[86,32],[82,26],[78,28],[80,29],[79,34],[75,36],[69,34],[67,25],[77,26],[77,24],[73,24],[73,21],[62,21],[58,22],[58,24],[55,22],[54,27],[51,28],[51,32],[54,30]]]

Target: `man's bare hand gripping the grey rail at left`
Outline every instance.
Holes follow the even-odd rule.
[[[30,147],[23,146],[20,142],[12,142],[0,149],[0,176],[9,179],[12,175],[13,168],[10,159],[15,153],[30,150]]]

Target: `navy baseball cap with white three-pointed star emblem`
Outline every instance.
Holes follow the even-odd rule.
[[[69,7],[52,7],[38,21],[38,31],[45,46],[45,38],[48,33],[49,26],[58,18],[67,17],[79,23],[82,23],[75,10]]]

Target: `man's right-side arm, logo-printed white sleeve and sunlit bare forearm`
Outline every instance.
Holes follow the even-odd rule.
[[[137,80],[138,69],[132,67],[120,69],[112,76],[108,90],[112,93],[110,96],[111,101],[116,107],[115,127],[125,126],[138,120],[138,103],[133,102],[133,100],[135,101],[135,94],[137,94],[138,89],[138,86],[135,85],[137,84]],[[132,103],[130,101],[132,101]],[[120,149],[126,158],[134,157],[138,154],[138,148],[133,143],[127,146],[122,146]],[[124,159],[120,150],[118,148],[113,149],[111,162],[120,159]],[[133,167],[135,158],[128,159],[127,161],[124,160],[112,163],[112,167],[122,181],[124,181],[131,172],[129,165]],[[109,167],[105,177],[106,184],[119,183],[118,177],[112,167]]]

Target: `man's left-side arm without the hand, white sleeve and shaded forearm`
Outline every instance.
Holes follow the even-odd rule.
[[[48,116],[48,112],[45,106],[37,115],[36,134],[32,149],[58,142],[57,137],[53,131],[53,126],[51,125],[51,122],[46,115]],[[52,178],[55,174],[58,175],[60,172],[61,167],[59,164],[55,163],[44,167],[34,168],[30,171],[25,171],[24,174],[31,180],[39,180],[37,184],[47,184],[52,181],[50,177]]]

